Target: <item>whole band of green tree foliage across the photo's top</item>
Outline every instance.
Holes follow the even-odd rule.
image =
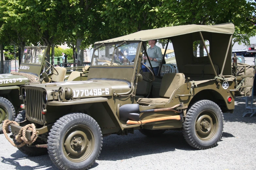
[[[235,25],[233,43],[256,35],[255,0],[1,0],[0,44],[56,47],[67,43],[83,60],[94,42],[140,30],[186,24]],[[167,41],[160,40],[164,46]],[[56,48],[55,53],[58,53]],[[46,52],[50,55],[50,48]],[[57,55],[58,56],[58,55]],[[49,59],[49,57],[48,57]]]

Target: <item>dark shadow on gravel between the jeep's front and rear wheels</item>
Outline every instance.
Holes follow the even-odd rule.
[[[167,131],[160,137],[149,138],[136,130],[134,135],[111,135],[103,138],[99,160],[117,161],[176,149],[196,150],[187,144],[180,131]]]

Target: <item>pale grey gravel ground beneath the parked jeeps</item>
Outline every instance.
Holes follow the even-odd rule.
[[[224,113],[223,137],[212,149],[190,147],[179,131],[148,138],[140,132],[103,138],[93,170],[126,169],[256,169],[256,116],[242,118],[245,100],[236,98],[233,114]],[[48,155],[29,157],[0,135],[0,169],[57,170]]]

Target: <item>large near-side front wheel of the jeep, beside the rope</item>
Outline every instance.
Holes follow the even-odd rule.
[[[102,134],[98,123],[83,113],[57,120],[49,133],[48,153],[59,169],[88,169],[100,154]]]

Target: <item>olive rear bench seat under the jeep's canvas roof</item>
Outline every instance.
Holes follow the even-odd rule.
[[[214,69],[219,75],[219,66],[213,64]],[[186,78],[190,78],[190,81],[199,81],[206,79],[213,79],[215,77],[211,64],[186,64],[182,67],[182,73]]]

